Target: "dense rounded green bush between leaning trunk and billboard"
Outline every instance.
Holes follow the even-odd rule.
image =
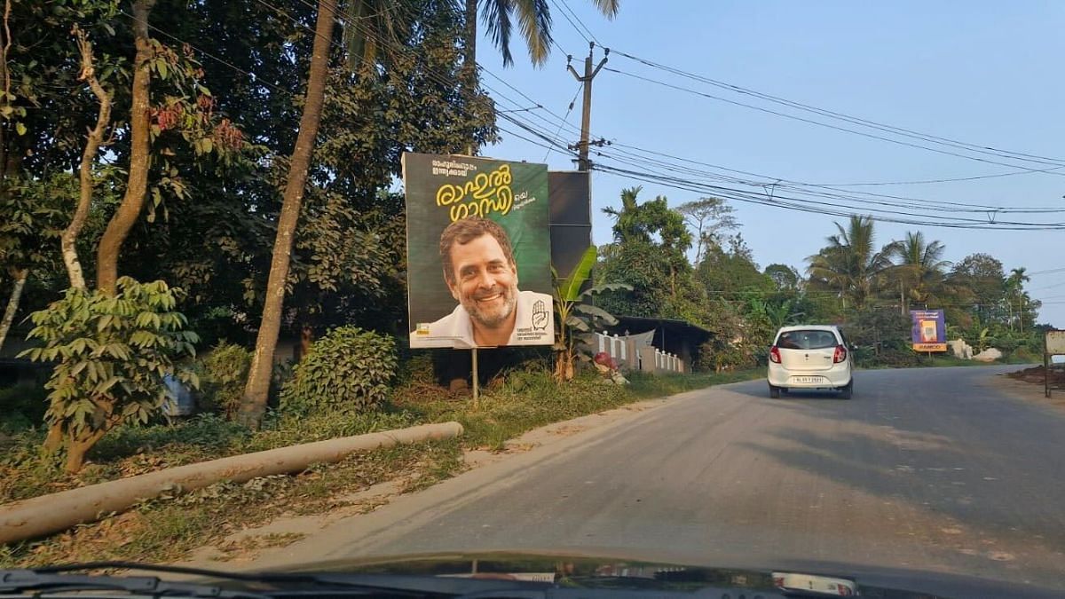
[[[396,372],[395,341],[355,326],[334,328],[311,346],[281,389],[284,411],[354,414],[379,406]]]

